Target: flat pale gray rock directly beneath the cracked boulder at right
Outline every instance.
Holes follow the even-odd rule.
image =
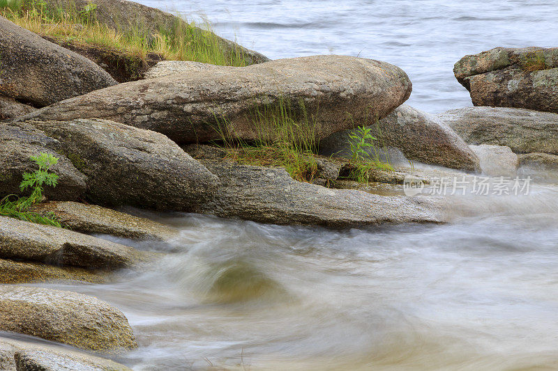
[[[438,116],[469,144],[506,145],[513,152],[558,155],[558,114],[528,109],[467,107]]]

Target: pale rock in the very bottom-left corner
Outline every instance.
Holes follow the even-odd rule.
[[[0,338],[3,371],[130,371],[119,363],[73,349]]]

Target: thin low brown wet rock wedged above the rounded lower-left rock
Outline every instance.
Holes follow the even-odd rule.
[[[42,263],[0,259],[0,283],[84,281],[104,283],[105,275],[76,267],[53,267]],[[0,368],[1,370],[1,368]]]

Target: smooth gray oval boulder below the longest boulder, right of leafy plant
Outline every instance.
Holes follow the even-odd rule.
[[[30,122],[59,142],[100,205],[188,210],[217,177],[166,136],[107,120]]]

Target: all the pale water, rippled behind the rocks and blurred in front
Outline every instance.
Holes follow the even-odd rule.
[[[558,35],[552,0],[143,2],[202,10],[271,58],[395,63],[432,112],[470,105],[451,72],[462,55]],[[44,286],[123,310],[140,348],[117,360],[135,370],[558,369],[558,188],[453,200],[446,225],[365,230],[153,214],[179,237],[112,239],[167,251],[156,266]]]

